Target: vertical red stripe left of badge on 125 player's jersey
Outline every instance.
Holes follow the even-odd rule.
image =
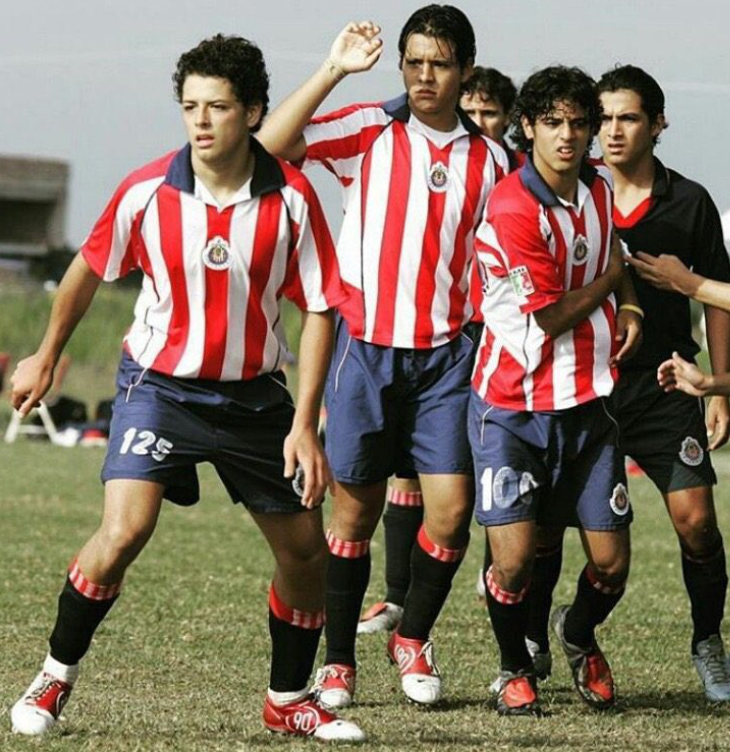
[[[157,211],[160,220],[160,246],[170,278],[172,316],[167,329],[165,347],[155,358],[152,370],[172,374],[180,362],[190,331],[188,288],[185,284],[185,260],[183,258],[180,193],[169,186],[162,186],[157,192]]]

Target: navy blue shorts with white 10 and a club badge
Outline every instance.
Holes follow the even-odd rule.
[[[472,391],[469,441],[480,525],[617,530],[633,517],[610,400],[569,410],[520,412]]]

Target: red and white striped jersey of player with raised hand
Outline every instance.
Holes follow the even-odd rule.
[[[323,164],[343,188],[339,310],[352,336],[404,348],[453,339],[471,315],[474,231],[508,170],[503,149],[466,115],[437,144],[405,94],[315,118],[304,138],[305,164]]]

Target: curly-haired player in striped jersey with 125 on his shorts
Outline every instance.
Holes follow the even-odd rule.
[[[264,724],[359,741],[360,729],[307,688],[324,620],[319,504],[330,472],[316,429],[329,309],[342,292],[334,246],[306,178],[251,136],[268,104],[258,47],[215,36],[184,53],[173,78],[187,145],[121,183],[61,283],[38,351],[13,376],[13,405],[27,414],[100,281],[141,270],[102,470],[101,525],[70,566],[50,652],[12,724],[28,735],[56,724],[163,498],[194,504],[195,466],[209,461],[276,560]],[[296,410],[281,372],[282,295],[302,310]]]

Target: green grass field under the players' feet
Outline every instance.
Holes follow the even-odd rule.
[[[95,639],[65,711],[62,731],[42,742],[12,736],[8,710],[38,669],[56,593],[101,509],[103,452],[20,439],[0,445],[0,749],[313,749],[267,734],[260,722],[268,679],[266,593],[271,557],[214,473],[201,468],[203,501],[167,505],[157,533],[131,568],[125,592]],[[730,470],[719,457],[721,473]],[[727,493],[719,487],[721,524]],[[556,656],[544,686],[548,718],[499,719],[487,687],[496,647],[474,595],[481,535],[472,546],[434,638],[446,681],[438,710],[407,704],[385,660],[385,639],[359,643],[358,704],[349,717],[382,750],[728,749],[730,708],[708,705],[691,665],[689,613],[677,544],[650,484],[632,482],[634,560],[624,601],[602,628],[619,684],[616,712],[597,715],[571,688]],[[382,593],[382,538],[373,545],[373,585]],[[566,550],[556,602],[572,597],[581,555]]]

